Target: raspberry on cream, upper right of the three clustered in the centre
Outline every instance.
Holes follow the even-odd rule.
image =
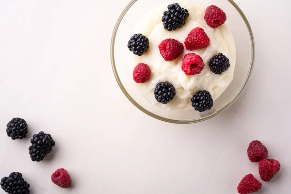
[[[203,49],[210,44],[210,38],[202,28],[194,28],[185,40],[185,46],[188,50]]]

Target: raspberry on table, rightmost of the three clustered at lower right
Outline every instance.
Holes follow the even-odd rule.
[[[274,159],[264,159],[259,162],[259,176],[263,181],[270,181],[280,170],[280,162]]]

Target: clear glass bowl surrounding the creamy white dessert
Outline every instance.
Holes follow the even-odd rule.
[[[236,44],[236,67],[234,78],[226,91],[214,102],[213,108],[199,113],[194,109],[167,111],[157,107],[143,97],[131,81],[132,72],[127,64],[127,44],[141,13],[169,0],[132,0],[119,16],[111,40],[111,63],[116,81],[125,96],[144,113],[170,123],[195,123],[210,119],[233,104],[242,94],[252,73],[255,59],[253,32],[242,10],[233,0],[195,0],[205,7],[217,5],[227,16],[226,24],[231,30]],[[171,2],[172,3],[172,2]],[[169,3],[170,4],[170,3]]]

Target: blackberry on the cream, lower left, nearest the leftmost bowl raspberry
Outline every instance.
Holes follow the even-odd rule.
[[[168,81],[160,82],[157,84],[154,91],[155,98],[158,100],[158,102],[162,104],[167,104],[172,99],[174,99],[176,95],[175,90],[175,87]]]

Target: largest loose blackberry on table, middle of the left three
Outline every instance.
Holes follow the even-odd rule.
[[[56,145],[50,134],[40,131],[34,134],[31,139],[32,146],[29,147],[29,154],[32,161],[40,162],[51,152],[52,147]]]

